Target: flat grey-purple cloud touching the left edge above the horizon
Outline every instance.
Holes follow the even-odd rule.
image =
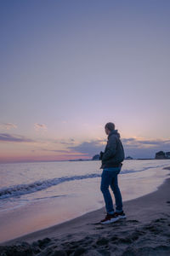
[[[34,141],[24,136],[10,135],[8,133],[0,133],[0,142],[7,143],[33,143]]]

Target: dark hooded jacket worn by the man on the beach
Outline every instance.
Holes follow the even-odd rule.
[[[105,152],[102,155],[101,169],[107,167],[118,167],[124,160],[124,149],[120,140],[120,134],[117,130],[111,131],[108,136],[108,141],[105,147]]]

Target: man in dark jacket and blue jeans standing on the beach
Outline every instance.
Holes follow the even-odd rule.
[[[107,215],[100,223],[110,224],[116,222],[119,218],[126,218],[122,210],[122,195],[117,180],[117,175],[121,171],[122,161],[124,160],[124,149],[120,140],[120,134],[115,130],[113,123],[105,125],[105,133],[108,135],[108,141],[105,152],[100,152],[100,160],[102,160],[101,169],[103,169],[100,189],[104,196]],[[116,212],[113,208],[109,186],[111,186],[115,196]]]

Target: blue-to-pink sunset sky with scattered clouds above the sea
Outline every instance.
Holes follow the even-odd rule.
[[[170,151],[169,0],[1,0],[0,163]]]

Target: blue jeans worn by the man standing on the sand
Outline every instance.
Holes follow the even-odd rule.
[[[121,167],[105,168],[101,175],[101,192],[103,193],[105,200],[106,211],[110,214],[114,213],[113,202],[111,199],[111,193],[109,186],[113,191],[116,201],[116,212],[122,212],[122,195],[118,187],[117,175],[121,171]]]

